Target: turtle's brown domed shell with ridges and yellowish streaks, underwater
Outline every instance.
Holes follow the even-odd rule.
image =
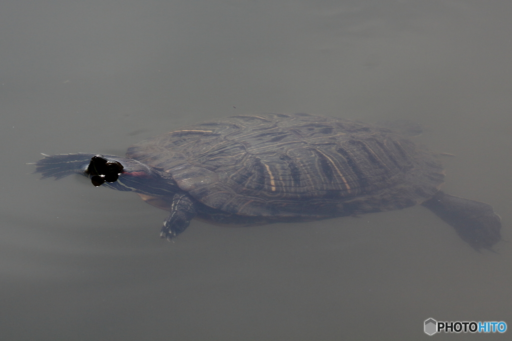
[[[296,113],[233,116],[130,147],[209,208],[318,219],[402,209],[438,192],[436,157],[385,127]]]

